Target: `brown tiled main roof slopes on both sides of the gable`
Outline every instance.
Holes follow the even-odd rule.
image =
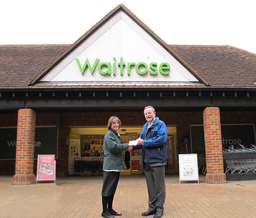
[[[0,89],[32,88],[29,86],[31,81],[70,47],[71,45],[1,45]],[[168,47],[212,87],[256,88],[255,54],[229,46]]]

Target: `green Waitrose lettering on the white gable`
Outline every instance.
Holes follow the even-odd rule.
[[[123,76],[125,73],[128,76],[131,76],[131,69],[135,68],[136,73],[138,75],[146,75],[149,73],[150,75],[157,75],[160,73],[163,76],[168,76],[170,74],[171,67],[167,62],[150,62],[147,64],[146,62],[123,62],[123,57],[118,61],[115,57],[113,57],[114,62],[100,62],[99,58],[96,58],[94,62],[89,62],[86,59],[85,62],[80,62],[77,58],[77,65],[79,67],[80,72],[84,75],[86,68],[90,70],[91,75],[98,70],[98,73],[101,73],[102,76],[109,76],[113,74],[114,76],[120,70],[120,75]]]

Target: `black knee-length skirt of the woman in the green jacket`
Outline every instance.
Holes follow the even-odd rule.
[[[115,195],[119,178],[120,171],[104,171],[101,196]]]

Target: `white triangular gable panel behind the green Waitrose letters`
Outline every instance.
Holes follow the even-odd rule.
[[[114,60],[114,57],[116,61]],[[117,63],[123,57],[126,66],[123,75]],[[112,67],[111,75],[103,76],[98,72],[98,68],[93,75],[87,68],[82,74],[77,65],[76,59],[81,66],[88,59],[93,66],[96,59],[101,62],[110,62]],[[161,73],[150,75],[146,73],[141,76],[136,73],[135,67],[131,68],[131,75],[127,73],[127,63],[145,62],[150,66],[150,62],[157,62],[158,68],[160,63],[168,62],[171,70],[168,76]],[[113,65],[116,64],[116,75],[113,75]],[[102,68],[105,71],[106,69]],[[131,17],[120,11],[88,39],[86,39],[77,49],[74,49],[58,65],[50,70],[41,81],[48,82],[198,82],[183,65],[181,65],[170,53],[158,44],[147,32],[137,25]]]

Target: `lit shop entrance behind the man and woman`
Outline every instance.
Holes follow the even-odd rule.
[[[177,145],[176,145],[176,126],[167,126],[168,130],[168,167],[166,173],[177,173]],[[122,126],[119,133],[123,143],[128,143],[131,140],[138,139],[141,134],[142,126]],[[86,166],[90,166],[88,171],[102,172],[102,163],[104,161],[104,134],[107,129],[105,127],[70,127],[69,134],[69,175],[76,173],[75,160],[86,161]],[[77,140],[72,140],[74,136]],[[75,145],[72,144],[75,142]],[[128,153],[123,153],[125,161],[125,169],[121,174],[142,174],[142,158],[141,150],[132,150]],[[96,166],[96,162],[98,165]],[[93,167],[95,169],[93,169]]]

